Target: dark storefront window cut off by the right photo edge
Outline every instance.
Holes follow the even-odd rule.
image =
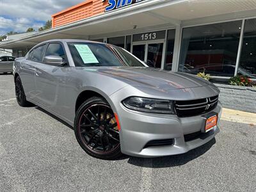
[[[248,19],[244,25],[244,38],[237,75],[256,79],[256,19]]]

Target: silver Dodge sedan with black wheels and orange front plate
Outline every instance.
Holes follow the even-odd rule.
[[[13,75],[20,106],[33,103],[67,122],[100,159],[182,154],[219,132],[214,84],[147,67],[114,45],[42,42],[15,60]]]

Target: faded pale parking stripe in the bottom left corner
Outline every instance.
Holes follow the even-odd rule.
[[[4,149],[2,143],[0,143],[0,164],[1,173],[3,173],[0,178],[8,178],[8,184],[11,184],[12,191],[26,191],[21,177],[19,173],[17,173],[15,166],[13,166],[12,159],[8,156],[8,153]],[[0,186],[1,184],[3,183],[0,183]]]

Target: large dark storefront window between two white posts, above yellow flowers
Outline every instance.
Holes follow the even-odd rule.
[[[242,21],[184,28],[179,71],[234,76]]]

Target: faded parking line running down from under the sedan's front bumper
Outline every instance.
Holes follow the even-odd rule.
[[[140,191],[152,191],[152,172],[153,172],[153,159],[143,159],[143,168],[141,171],[141,188]]]

